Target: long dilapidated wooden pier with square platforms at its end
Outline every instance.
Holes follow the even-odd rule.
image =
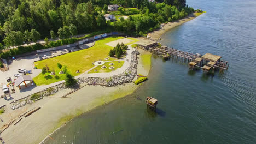
[[[148,50],[156,55],[161,55],[164,59],[174,56],[185,61],[188,60],[189,69],[193,70],[195,68],[200,68],[203,70],[203,73],[213,74],[216,69],[220,72],[224,72],[224,70],[229,68],[227,61],[222,60],[221,56],[213,55],[211,53],[206,53],[202,56],[199,53],[194,54],[167,46],[149,48]]]

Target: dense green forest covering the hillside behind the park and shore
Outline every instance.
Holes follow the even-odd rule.
[[[120,5],[118,11],[110,14],[129,18],[106,22],[108,4]],[[143,35],[161,23],[181,19],[193,11],[185,0],[0,0],[0,42],[21,45],[46,37],[46,41],[56,37],[68,39],[97,31]]]

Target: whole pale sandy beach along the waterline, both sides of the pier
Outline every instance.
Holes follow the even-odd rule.
[[[151,33],[151,39],[158,40],[162,34],[169,31],[171,28],[192,20],[195,17],[196,16],[193,14],[185,19],[179,20],[179,22],[168,23],[159,31]],[[142,56],[151,56],[151,54],[143,50],[139,50],[139,52],[141,55],[139,55],[138,59],[137,73],[148,75],[151,66],[150,64],[145,65],[145,62],[143,62],[145,59],[143,59]],[[69,94],[66,98],[62,98],[62,95],[73,91],[73,89],[65,89],[57,92],[53,96],[45,97],[42,100],[36,101],[33,104],[27,104],[18,110],[6,111],[3,113],[1,118],[4,119],[4,121],[0,122],[0,127],[9,123],[14,118],[18,121],[19,118],[17,117],[28,110],[41,107],[37,112],[26,118],[23,117],[19,123],[16,125],[11,124],[8,129],[3,131],[3,133],[1,133],[1,137],[4,142],[40,143],[45,139],[45,137],[48,137],[48,135],[53,133],[54,130],[61,127],[61,125],[65,125],[65,123],[70,121],[72,118],[88,112],[97,106],[125,97],[126,95],[133,93],[138,87],[133,83],[116,87],[85,86],[85,84],[81,86],[84,87],[79,89],[79,91]]]

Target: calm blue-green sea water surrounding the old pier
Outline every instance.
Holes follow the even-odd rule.
[[[207,13],[160,42],[223,56],[224,75],[152,57],[149,80],[135,93],[73,119],[46,143],[256,143],[256,1],[187,3]],[[156,113],[148,96],[159,100]]]

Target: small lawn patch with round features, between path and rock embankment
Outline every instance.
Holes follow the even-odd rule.
[[[109,65],[110,63],[113,63],[114,65]],[[105,65],[107,68],[102,69],[101,67]],[[88,74],[90,73],[108,73],[111,72],[112,70],[116,70],[118,68],[121,68],[124,65],[124,61],[120,61],[120,63],[118,61],[114,61],[114,62],[106,62],[103,65],[99,65],[98,67],[92,69],[91,71],[88,72]],[[109,69],[109,67],[113,66],[114,69]],[[97,71],[95,71],[95,69]]]

